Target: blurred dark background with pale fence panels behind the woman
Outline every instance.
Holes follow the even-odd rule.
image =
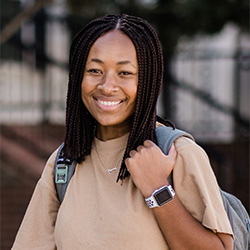
[[[249,201],[248,0],[1,0],[1,249],[10,249],[64,139],[72,37],[107,13],[148,20],[162,43],[160,116],[194,135],[219,185]]]

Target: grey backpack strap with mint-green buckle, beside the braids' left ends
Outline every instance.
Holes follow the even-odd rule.
[[[54,164],[54,181],[58,200],[62,203],[71,177],[75,173],[76,161],[70,162],[63,157],[64,143],[58,149]]]

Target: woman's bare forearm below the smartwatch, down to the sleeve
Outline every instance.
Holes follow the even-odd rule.
[[[171,249],[233,249],[229,234],[215,234],[194,219],[177,196],[167,205],[153,208],[155,218]]]

